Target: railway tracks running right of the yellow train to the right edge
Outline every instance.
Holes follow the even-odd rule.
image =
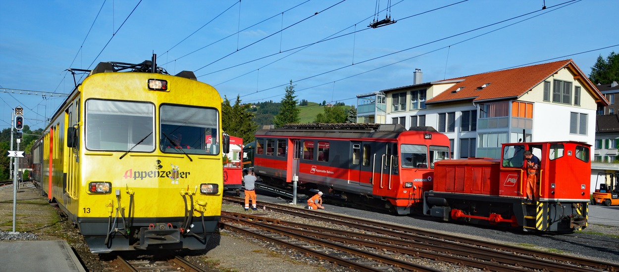
[[[225,200],[243,202],[240,198],[226,197]],[[293,233],[300,237],[311,237],[311,239],[294,237],[293,239],[295,240],[302,240],[309,244],[318,244],[321,247],[329,247],[331,250],[347,254],[353,253],[336,249],[337,245],[355,247],[369,253],[379,252],[379,255],[371,255],[369,253],[357,255],[357,258],[366,258],[381,263],[381,265],[371,266],[373,267],[371,269],[391,266],[392,268],[402,270],[432,271],[433,268],[429,266],[410,266],[411,263],[418,263],[418,259],[422,258],[424,260],[442,261],[451,266],[466,266],[493,271],[619,271],[617,265],[600,263],[584,258],[511,247],[509,245],[439,234],[410,227],[394,226],[360,218],[350,218],[348,216],[322,212],[317,213],[286,205],[261,203],[261,206],[266,206],[269,210],[322,223],[308,225],[241,213],[230,213],[225,216],[222,214],[223,221],[228,222],[227,226],[235,222],[235,229],[254,236],[259,235],[263,239],[265,239],[264,236],[270,236],[271,238],[269,239],[276,239],[275,237],[282,236],[281,239],[278,239],[278,243],[287,247],[293,247],[293,245],[289,245],[289,242],[286,242],[287,239],[291,239],[289,238],[290,233]],[[344,226],[345,229],[342,230],[341,227],[337,227],[337,229],[322,227],[324,223]],[[268,232],[265,234],[262,233],[263,231]],[[308,245],[304,247],[308,247]],[[389,258],[386,257],[405,260],[406,265],[409,266],[405,266],[401,262],[396,263],[388,260]],[[322,258],[334,261],[330,260],[329,257]],[[340,264],[339,260],[334,262],[342,266],[350,266],[348,264]],[[359,269],[368,270],[370,268]]]

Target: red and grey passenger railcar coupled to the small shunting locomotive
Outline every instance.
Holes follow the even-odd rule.
[[[254,171],[274,185],[298,179],[303,187],[347,201],[420,213],[434,164],[449,158],[449,146],[431,127],[289,124],[256,132]]]

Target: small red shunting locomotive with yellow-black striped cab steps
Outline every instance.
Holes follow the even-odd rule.
[[[524,231],[572,232],[587,226],[590,145],[581,142],[505,143],[501,159],[440,161],[426,215],[444,221],[505,225]],[[534,200],[526,200],[524,151],[539,157]]]

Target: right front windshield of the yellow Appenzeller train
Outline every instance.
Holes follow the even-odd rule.
[[[161,149],[165,153],[217,155],[217,110],[164,104],[160,108]]]

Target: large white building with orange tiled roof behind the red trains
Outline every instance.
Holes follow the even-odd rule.
[[[452,158],[500,158],[501,143],[595,143],[595,112],[608,106],[571,59],[383,90],[387,123],[434,127]],[[594,152],[591,152],[593,158]]]

